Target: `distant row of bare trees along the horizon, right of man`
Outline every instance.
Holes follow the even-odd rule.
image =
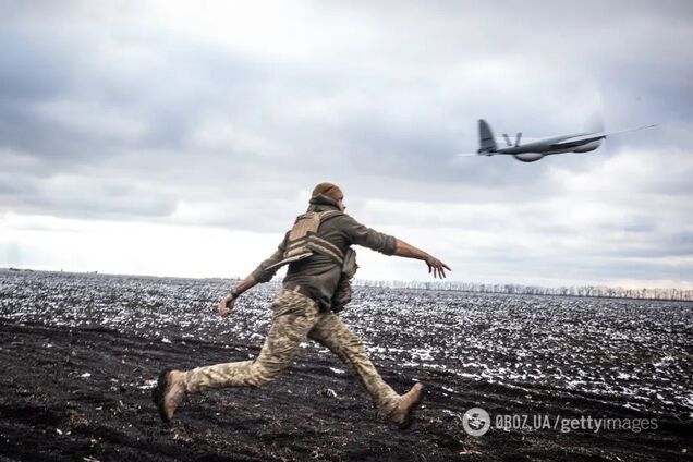
[[[559,288],[543,288],[538,285],[520,284],[485,284],[475,282],[447,281],[372,281],[364,279],[356,279],[354,281],[354,285],[479,293],[511,293],[524,295],[598,296],[609,299],[693,301],[693,290],[683,289],[624,289],[609,288],[605,285],[570,285]]]

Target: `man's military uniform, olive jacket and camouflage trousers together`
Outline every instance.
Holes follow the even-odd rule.
[[[308,211],[329,210],[339,210],[331,197],[318,195],[311,199]],[[386,255],[392,255],[396,250],[393,236],[366,228],[345,214],[335,214],[320,223],[317,234],[342,253],[353,244]],[[285,255],[288,238],[289,232],[277,252],[253,271],[258,282],[269,281],[277,272],[276,265]],[[330,309],[340,276],[341,267],[326,255],[315,254],[291,263],[283,290],[272,302],[272,325],[259,355],[253,361],[189,370],[185,391],[269,384],[291,364],[301,342],[309,338],[327,346],[350,367],[380,411],[387,413],[394,409],[400,396],[382,380],[361,340]]]

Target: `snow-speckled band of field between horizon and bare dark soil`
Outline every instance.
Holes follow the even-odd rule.
[[[228,283],[0,270],[0,320],[135,331],[169,344],[259,345],[280,285],[254,288],[222,318],[216,306]],[[693,412],[690,303],[355,288],[340,317],[376,364]],[[301,348],[329,354],[314,342]]]

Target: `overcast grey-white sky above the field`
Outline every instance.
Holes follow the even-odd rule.
[[[0,1],[0,267],[245,276],[321,181],[451,280],[693,288],[693,2]],[[611,137],[523,163],[496,135]],[[426,280],[358,251],[364,279]]]

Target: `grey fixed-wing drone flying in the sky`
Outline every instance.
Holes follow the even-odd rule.
[[[606,133],[604,131],[594,133],[578,133],[573,135],[551,136],[549,138],[534,139],[523,145],[520,144],[522,132],[518,133],[514,145],[510,137],[503,134],[507,147],[499,148],[490,126],[484,119],[478,121],[479,147],[476,151],[478,156],[495,156],[507,154],[523,162],[534,162],[552,154],[562,153],[588,153],[595,150],[601,144],[601,139],[617,133],[633,132],[635,130],[649,129],[655,125],[640,126],[637,129],[623,130],[620,132]],[[464,155],[462,155],[464,156]]]

